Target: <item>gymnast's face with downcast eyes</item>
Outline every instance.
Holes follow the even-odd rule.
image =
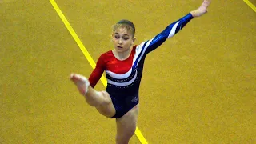
[[[134,45],[134,34],[126,27],[117,27],[112,34],[114,49],[118,53],[126,52]]]

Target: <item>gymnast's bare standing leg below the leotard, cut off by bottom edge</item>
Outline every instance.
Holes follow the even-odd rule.
[[[130,138],[134,135],[138,119],[138,105],[134,106],[122,118],[117,118],[117,144],[128,144]]]

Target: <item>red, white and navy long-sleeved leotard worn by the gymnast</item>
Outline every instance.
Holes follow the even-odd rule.
[[[177,34],[193,18],[187,14],[176,22],[171,23],[154,38],[133,46],[129,58],[120,61],[114,57],[112,50],[98,58],[96,68],[90,74],[90,86],[94,87],[106,71],[106,91],[110,94],[116,114],[113,118],[121,118],[138,104],[138,89],[142,78],[142,71],[146,54],[155,50],[167,38]]]

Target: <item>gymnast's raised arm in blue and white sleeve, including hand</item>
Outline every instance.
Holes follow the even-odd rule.
[[[142,42],[142,44],[138,46],[138,49],[144,49],[143,51],[145,54],[155,50],[158,46],[162,45],[167,38],[173,37],[174,34],[177,34],[178,31],[182,30],[182,28],[186,26],[186,24],[190,22],[192,18],[200,17],[203,14],[206,14],[208,6],[210,6],[210,0],[204,0],[202,5],[197,10],[193,10],[189,14],[186,14],[186,16],[180,18],[178,21],[171,23],[166,27],[165,30],[149,41]]]

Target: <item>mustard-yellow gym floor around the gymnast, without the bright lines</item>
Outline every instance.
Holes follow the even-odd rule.
[[[94,62],[113,49],[118,20],[134,22],[139,44],[201,2],[56,0]],[[146,142],[256,142],[255,28],[242,0],[214,1],[147,56],[138,117]],[[114,119],[69,80],[93,68],[50,1],[0,1],[0,37],[0,143],[114,143]]]

